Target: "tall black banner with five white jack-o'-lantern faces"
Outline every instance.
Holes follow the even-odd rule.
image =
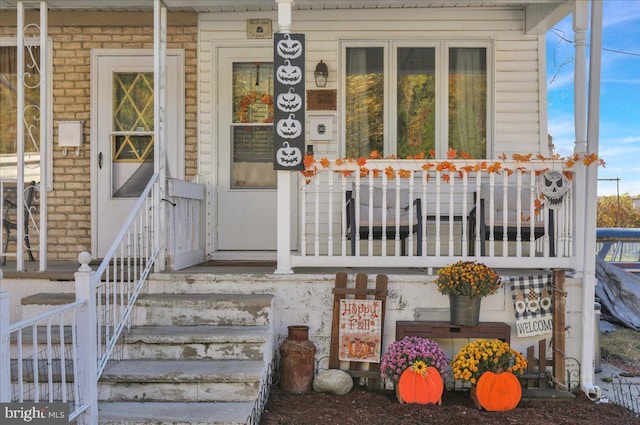
[[[273,168],[304,170],[304,34],[273,39]]]

